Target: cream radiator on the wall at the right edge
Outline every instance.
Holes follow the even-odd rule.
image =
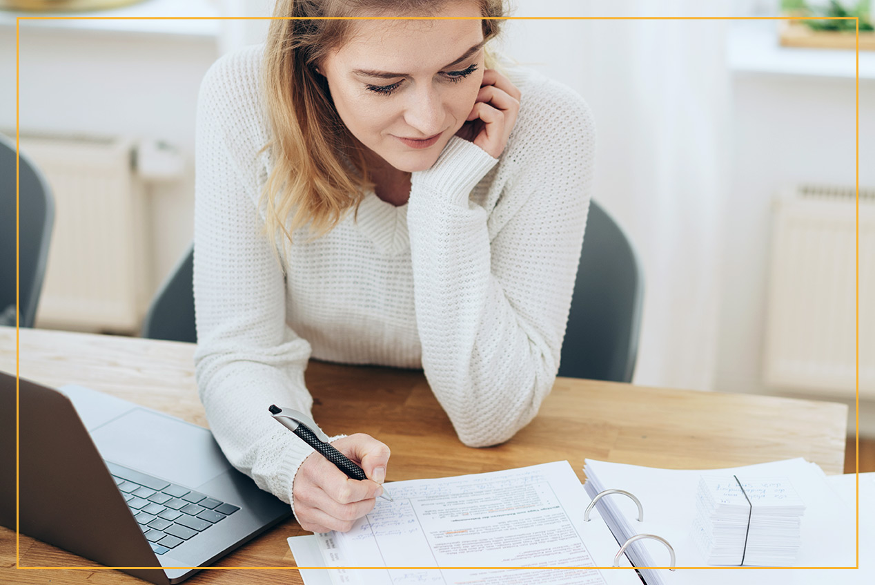
[[[875,398],[875,189],[806,185],[774,209],[767,300],[765,380],[769,386]]]

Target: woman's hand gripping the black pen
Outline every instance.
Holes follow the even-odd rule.
[[[363,469],[368,479],[350,479],[325,457],[311,453],[297,469],[291,493],[297,522],[304,530],[347,532],[357,519],[374,510],[382,493],[389,457],[385,444],[356,433],[332,445]]]

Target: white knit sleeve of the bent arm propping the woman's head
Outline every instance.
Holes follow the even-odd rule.
[[[408,224],[423,370],[458,437],[507,441],[535,417],[559,367],[589,209],[594,124],[549,82],[502,153],[491,213],[469,201],[496,162],[451,138],[413,174]],[[543,95],[547,95],[543,98]]]

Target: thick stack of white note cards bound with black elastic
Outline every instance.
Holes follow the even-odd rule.
[[[696,509],[693,539],[708,564],[794,564],[805,504],[788,478],[702,476]]]

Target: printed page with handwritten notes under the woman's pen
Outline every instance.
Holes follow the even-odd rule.
[[[606,525],[583,522],[589,498],[568,462],[389,485],[395,502],[378,499],[350,532],[289,539],[298,566],[314,560],[300,539],[316,539],[335,584],[641,584],[632,569],[534,568],[611,567],[619,549]]]

